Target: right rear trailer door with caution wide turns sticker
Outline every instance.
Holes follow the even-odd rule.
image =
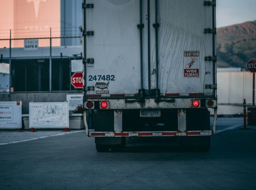
[[[155,0],[151,2],[151,6],[155,7]],[[158,61],[158,89],[161,95],[214,95],[215,89],[211,87],[216,83],[215,61],[205,61],[205,57],[215,56],[216,35],[204,31],[216,28],[215,6],[204,4],[204,0],[157,1],[158,49],[153,43],[154,29],[151,29],[150,87],[156,88],[156,61]],[[151,10],[150,20],[155,23],[155,12],[154,9]],[[157,60],[156,51],[158,51]]]

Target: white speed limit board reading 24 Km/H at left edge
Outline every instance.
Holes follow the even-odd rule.
[[[0,102],[0,128],[22,127],[22,102]]]

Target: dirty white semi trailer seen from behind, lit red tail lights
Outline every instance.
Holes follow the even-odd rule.
[[[121,151],[132,136],[208,151],[216,1],[83,0],[82,10],[84,121],[97,151]]]

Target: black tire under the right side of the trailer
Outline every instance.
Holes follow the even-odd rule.
[[[181,147],[184,151],[208,152],[211,146],[211,136],[182,136]]]

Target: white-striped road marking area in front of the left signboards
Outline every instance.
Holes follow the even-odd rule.
[[[65,134],[72,134],[82,132],[84,130],[79,131],[70,131],[70,132],[60,132],[60,131],[37,131],[37,132],[0,132],[0,145],[32,141],[37,139],[43,139],[50,136],[60,136]]]

